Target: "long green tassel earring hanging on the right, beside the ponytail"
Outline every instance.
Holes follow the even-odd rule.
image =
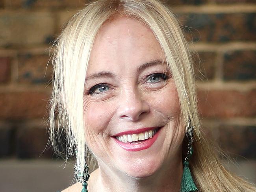
[[[198,190],[197,186],[195,185],[195,182],[193,181],[191,172],[189,170],[189,158],[191,157],[193,153],[193,148],[192,148],[192,139],[190,136],[188,136],[189,142],[187,144],[187,156],[184,159],[183,165],[183,175],[182,175],[182,182],[181,182],[181,190],[180,192],[193,192]]]

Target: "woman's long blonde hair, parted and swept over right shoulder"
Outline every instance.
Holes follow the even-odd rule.
[[[157,0],[98,0],[74,15],[65,26],[56,41],[54,56],[54,85],[49,117],[52,143],[56,140],[56,130],[65,130],[69,142],[67,152],[70,154],[77,150],[76,164],[80,164],[83,170],[89,152],[85,144],[83,120],[85,74],[98,30],[116,15],[134,18],[148,26],[165,53],[180,99],[184,129],[190,135],[193,131],[194,153],[189,164],[199,191],[255,191],[256,188],[250,183],[230,174],[223,167],[218,156],[221,152],[218,154],[202,135],[187,42],[173,13]]]

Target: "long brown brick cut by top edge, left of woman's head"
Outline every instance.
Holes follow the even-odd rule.
[[[51,8],[83,7],[87,0],[5,0],[5,6],[9,9],[16,8]]]

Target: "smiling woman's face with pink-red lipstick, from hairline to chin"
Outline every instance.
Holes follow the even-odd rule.
[[[178,94],[151,30],[127,17],[105,23],[86,77],[86,142],[100,170],[147,177],[182,161]]]

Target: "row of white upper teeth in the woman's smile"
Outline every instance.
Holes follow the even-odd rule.
[[[121,142],[135,142],[138,140],[141,141],[148,138],[152,138],[156,134],[156,131],[157,129],[154,129],[154,130],[145,131],[144,133],[139,133],[139,134],[117,136],[116,138]]]

